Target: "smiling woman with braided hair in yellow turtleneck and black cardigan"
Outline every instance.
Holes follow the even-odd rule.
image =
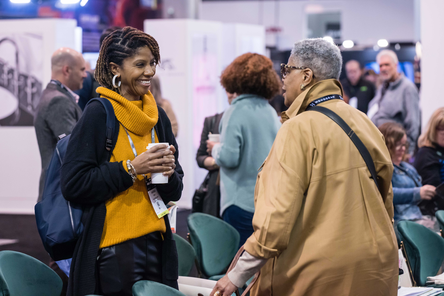
[[[170,223],[167,216],[158,217],[145,184],[151,173],[163,173],[168,182],[155,184],[163,202],[182,194],[183,171],[171,124],[148,90],[159,61],[156,40],[135,28],[114,31],[103,40],[94,77],[102,85],[97,93],[114,108],[111,151],[104,149],[105,108],[92,101],[72,131],[60,174],[63,196],[84,208],[68,296],[130,296],[138,280],[178,288]],[[146,150],[153,138],[170,146]],[[156,152],[161,148],[169,150]]]

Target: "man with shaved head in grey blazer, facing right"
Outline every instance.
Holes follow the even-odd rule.
[[[71,134],[82,115],[82,109],[77,105],[79,96],[73,91],[82,88],[83,78],[86,76],[85,60],[81,53],[61,47],[52,54],[51,82],[42,93],[34,118],[42,159],[38,201],[42,200],[46,168],[59,136]]]

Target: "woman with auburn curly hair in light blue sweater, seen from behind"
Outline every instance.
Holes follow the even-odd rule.
[[[257,53],[238,56],[221,76],[230,107],[219,125],[220,143],[207,142],[220,166],[220,214],[241,235],[253,233],[254,185],[259,167],[281,126],[268,100],[279,91],[271,60]]]

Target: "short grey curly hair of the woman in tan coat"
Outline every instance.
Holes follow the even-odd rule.
[[[304,39],[294,43],[290,59],[298,67],[307,67],[319,79],[339,79],[342,68],[342,55],[339,48],[322,39]]]

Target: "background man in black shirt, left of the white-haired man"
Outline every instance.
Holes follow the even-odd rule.
[[[362,78],[361,65],[355,59],[345,63],[345,74],[347,78],[342,79],[341,84],[348,103],[367,114],[369,102],[375,96],[375,86]]]

